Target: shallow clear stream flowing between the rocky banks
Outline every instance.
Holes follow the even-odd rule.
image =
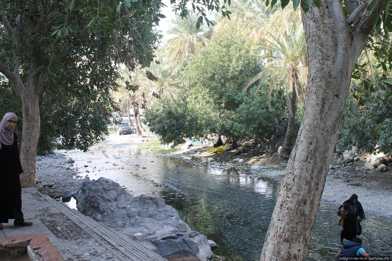
[[[119,153],[114,158],[110,156],[111,149]],[[234,168],[210,168],[208,164],[192,165],[162,158],[146,150],[97,147],[92,153],[98,157],[102,153],[110,163],[117,162],[112,168],[95,162],[90,178],[111,178],[134,195],[152,192],[162,196],[191,229],[218,244],[213,252],[222,260],[253,261],[260,257],[280,186],[279,181],[265,175],[268,170],[255,174]],[[75,160],[77,163],[83,159]],[[340,250],[336,211],[334,205],[321,205],[307,260],[333,260]],[[390,220],[367,215],[362,227],[366,252],[390,257]]]

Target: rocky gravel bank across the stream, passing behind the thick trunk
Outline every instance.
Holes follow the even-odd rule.
[[[183,145],[182,145],[183,146]],[[181,147],[181,146],[179,146]],[[244,173],[258,174],[281,180],[286,162],[268,163],[265,156],[259,155],[260,149],[243,146],[222,154],[209,152],[208,146],[196,145],[188,149],[180,149],[171,155],[182,158],[188,164],[200,165],[208,163],[211,168],[235,168]],[[352,152],[351,152],[352,153]],[[322,202],[338,206],[355,193],[359,196],[365,213],[384,216],[392,220],[392,167],[390,163],[383,171],[369,165],[370,159],[380,158],[380,155],[361,154],[355,151],[351,160],[344,162],[340,153],[334,154],[334,159],[327,174]],[[390,161],[390,160],[389,160]],[[378,166],[378,165],[377,165]]]

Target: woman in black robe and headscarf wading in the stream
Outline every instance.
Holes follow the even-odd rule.
[[[362,233],[360,222],[365,219],[362,204],[358,201],[356,194],[351,195],[350,199],[339,206],[339,211],[337,212],[339,216],[344,204],[348,204],[348,212],[343,229],[340,232],[340,244],[343,244],[343,239],[351,241],[357,235],[359,236]]]

